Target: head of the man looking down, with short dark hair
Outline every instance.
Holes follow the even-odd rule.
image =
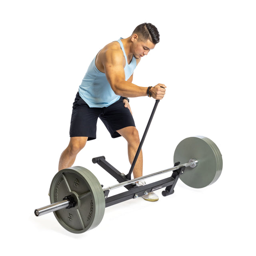
[[[147,55],[160,41],[157,28],[151,23],[143,23],[132,32],[132,52],[136,59]]]

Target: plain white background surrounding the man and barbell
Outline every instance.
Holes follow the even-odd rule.
[[[5,255],[255,255],[256,18],[249,0],[1,1],[1,231]],[[181,181],[172,196],[142,198],[106,208],[100,225],[72,234],[53,214],[50,182],[69,142],[78,86],[96,53],[130,36],[143,22],[160,43],[134,72],[134,83],[164,83],[143,146],[144,174],[173,166],[186,137],[213,140],[223,156],[219,180],[203,189]],[[154,106],[130,105],[142,136]],[[104,155],[127,173],[126,142],[98,122],[74,165],[91,170],[105,187],[116,184],[91,159]],[[161,177],[158,176],[157,179]]]

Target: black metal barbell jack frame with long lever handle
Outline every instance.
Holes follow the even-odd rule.
[[[148,132],[149,126],[151,124],[152,118],[154,116],[154,113],[156,111],[156,108],[158,106],[159,100],[156,100],[154,108],[152,110],[152,113],[150,115],[150,118],[148,120],[148,124],[146,126],[146,129],[144,131],[144,134],[142,136],[142,140],[140,141],[140,145],[138,146],[138,150],[136,152],[136,155],[134,157],[134,160],[132,162],[130,171],[128,172],[127,175],[125,175],[124,173],[119,172],[116,168],[114,168],[114,166],[112,166],[110,163],[108,163],[106,161],[106,158],[104,156],[99,156],[96,158],[92,159],[92,162],[94,164],[98,164],[100,165],[104,170],[106,170],[110,175],[112,175],[114,178],[116,178],[116,180],[121,183],[121,182],[125,182],[128,180],[131,180],[131,174],[132,171],[134,169],[134,166],[136,164],[137,158],[140,154],[140,150],[142,148],[142,144],[145,140],[146,134]],[[176,162],[174,164],[174,166],[179,165],[180,162]],[[174,193],[174,187],[180,177],[180,175],[183,174],[184,170],[186,167],[181,167],[178,170],[172,171],[172,176],[170,176],[169,178],[165,178],[163,180],[158,180],[156,182],[152,182],[150,184],[146,184],[144,186],[136,186],[136,184],[128,184],[126,186],[124,186],[128,191],[126,192],[122,192],[120,194],[116,194],[114,196],[110,196],[108,197],[109,194],[109,190],[105,190],[104,191],[104,195],[105,195],[105,199],[106,199],[106,207],[114,205],[114,204],[118,204],[120,202],[124,202],[126,200],[132,199],[132,198],[137,198],[140,196],[145,195],[146,193],[150,193],[152,191],[161,189],[161,188],[166,188],[165,190],[162,191],[162,195],[163,196],[168,196]]]

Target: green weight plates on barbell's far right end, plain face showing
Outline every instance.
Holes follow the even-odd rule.
[[[204,188],[218,180],[222,171],[222,155],[209,138],[194,136],[182,140],[175,149],[174,163],[187,163],[196,158],[198,165],[186,167],[180,179],[192,188]]]

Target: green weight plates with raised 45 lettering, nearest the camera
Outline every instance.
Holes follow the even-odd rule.
[[[72,233],[82,233],[100,224],[105,211],[104,192],[97,178],[84,167],[74,166],[58,172],[50,186],[50,202],[72,195],[74,208],[54,212],[58,222]]]

